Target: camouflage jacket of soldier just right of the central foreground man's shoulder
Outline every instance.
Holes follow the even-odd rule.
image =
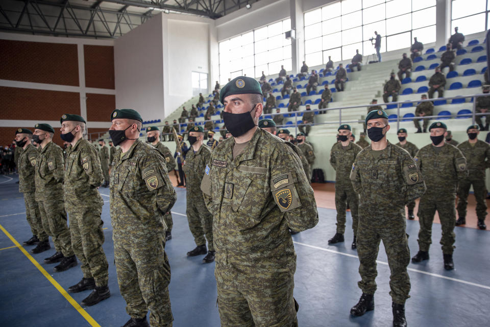
[[[349,142],[345,149],[340,142],[333,145],[332,150],[330,150],[330,165],[335,170],[335,183],[351,184],[349,176],[352,164],[354,164],[354,160],[361,150],[360,146],[352,142]]]

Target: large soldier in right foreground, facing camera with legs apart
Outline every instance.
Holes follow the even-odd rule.
[[[393,299],[393,326],[405,327],[405,301],[409,297],[410,278],[407,266],[410,251],[406,234],[405,205],[424,194],[426,186],[419,168],[403,149],[386,139],[388,115],[373,110],[365,119],[371,147],[362,149],[356,157],[350,178],[359,194],[359,225],[357,252],[358,283],[362,290],[351,315],[362,316],[374,310],[376,258],[379,242],[383,241],[391,271],[389,294]]]

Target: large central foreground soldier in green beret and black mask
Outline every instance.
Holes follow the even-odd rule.
[[[255,79],[231,80],[220,101],[233,138],[212,152],[201,188],[214,213],[221,324],[297,326],[289,229],[318,222],[313,189],[290,143],[256,126],[263,102]]]

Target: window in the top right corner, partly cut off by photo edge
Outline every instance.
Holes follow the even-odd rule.
[[[471,5],[470,5],[471,3]],[[490,1],[453,0],[451,6],[451,34],[454,28],[464,35],[486,31],[490,28]]]

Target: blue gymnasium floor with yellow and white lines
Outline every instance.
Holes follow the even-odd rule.
[[[109,265],[109,288],[112,296],[93,307],[78,305],[90,291],[68,294],[66,289],[82,277],[80,266],[54,273],[54,265],[43,259],[52,249],[30,254],[33,246],[20,244],[31,237],[25,218],[22,195],[18,193],[16,175],[0,176],[0,326],[122,326],[129,316],[125,301],[119,294],[109,217],[109,189],[101,189],[102,219],[106,242],[104,250]],[[176,188],[178,200],[172,209],[173,239],[166,251],[171,266],[169,286],[175,327],[219,326],[216,308],[214,264],[203,264],[201,256],[187,258],[186,252],[195,245],[185,216],[185,189]],[[317,198],[322,191],[318,190]],[[324,191],[328,197],[328,190]],[[331,194],[330,194],[331,196]],[[325,200],[325,199],[323,199]],[[318,205],[325,205],[318,201]],[[328,204],[325,205],[328,207]],[[474,211],[474,205],[470,207]],[[327,240],[335,233],[335,210],[318,208],[320,222],[313,229],[293,236],[298,255],[295,275],[295,298],[300,304],[300,326],[391,326],[389,268],[383,246],[378,256],[378,291],[376,309],[362,317],[349,315],[350,308],[361,294],[356,251],[351,250],[352,229],[347,228],[346,242],[329,246]],[[352,223],[348,213],[348,226]],[[487,224],[489,222],[487,221]],[[411,254],[416,243],[419,224],[407,221]],[[410,326],[488,326],[490,303],[490,233],[488,230],[456,227],[454,271],[443,268],[438,240],[440,225],[433,225],[431,259],[409,265],[411,298],[407,300],[406,316]],[[19,244],[20,243],[20,244]]]

